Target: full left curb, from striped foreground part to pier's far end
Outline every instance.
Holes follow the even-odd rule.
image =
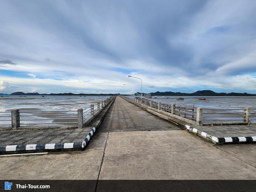
[[[116,98],[115,98],[116,99]],[[115,100],[114,99],[114,100]],[[56,150],[70,150],[70,149],[77,149],[77,150],[83,150],[86,145],[89,143],[89,140],[92,138],[94,133],[96,132],[96,128],[101,124],[102,120],[108,113],[109,108],[113,104],[114,100],[112,100],[109,105],[107,106],[108,109],[106,110],[105,114],[102,116],[100,122],[94,126],[91,131],[87,134],[83,142],[74,142],[74,143],[47,143],[47,144],[26,144],[26,145],[6,145],[6,146],[0,146],[0,154],[8,154],[13,152],[24,152],[24,153],[33,153],[36,151],[54,151]],[[95,128],[96,127],[96,128]]]

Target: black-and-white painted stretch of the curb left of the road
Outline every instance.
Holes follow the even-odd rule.
[[[27,150],[48,150],[48,149],[71,149],[84,148],[92,135],[95,133],[95,127],[89,132],[82,143],[49,143],[49,144],[27,144],[27,145],[7,145],[0,146],[0,152],[6,151],[27,151]]]

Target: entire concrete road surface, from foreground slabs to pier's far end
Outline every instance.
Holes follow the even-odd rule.
[[[117,97],[84,151],[0,156],[0,179],[247,180],[255,154],[254,144],[216,146]]]

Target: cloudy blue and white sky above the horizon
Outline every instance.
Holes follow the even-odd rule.
[[[140,92],[135,76],[146,93],[256,93],[255,10],[255,0],[1,0],[0,92]]]

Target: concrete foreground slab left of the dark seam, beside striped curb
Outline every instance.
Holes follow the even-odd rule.
[[[0,179],[95,180],[96,182],[107,137],[108,133],[98,133],[84,151],[0,156]]]

